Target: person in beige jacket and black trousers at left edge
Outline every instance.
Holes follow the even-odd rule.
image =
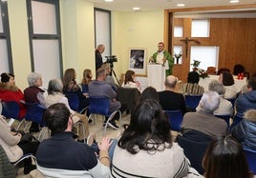
[[[18,161],[24,154],[32,153],[35,155],[39,143],[22,142],[22,134],[11,131],[10,126],[1,115],[0,130],[0,145],[5,150],[10,162]],[[31,158],[24,160],[24,174],[30,173],[34,168]]]

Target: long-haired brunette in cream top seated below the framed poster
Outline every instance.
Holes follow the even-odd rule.
[[[121,87],[137,88],[137,89],[141,90],[141,86],[140,86],[139,82],[137,82],[135,80],[135,71],[134,70],[128,69],[125,72],[124,82],[122,83]]]

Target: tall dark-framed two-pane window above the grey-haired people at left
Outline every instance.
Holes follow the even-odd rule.
[[[27,0],[32,71],[43,76],[44,87],[61,78],[62,50],[58,0]]]

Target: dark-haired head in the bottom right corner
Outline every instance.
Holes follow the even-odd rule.
[[[205,178],[253,178],[241,145],[231,136],[212,141],[203,158]]]

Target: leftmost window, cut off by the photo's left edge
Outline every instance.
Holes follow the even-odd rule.
[[[0,72],[13,73],[7,1],[0,0]]]

